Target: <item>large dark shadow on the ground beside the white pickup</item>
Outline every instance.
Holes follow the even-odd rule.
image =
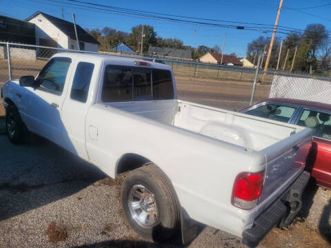
[[[0,220],[66,198],[106,177],[43,138],[12,145],[0,135],[0,147]]]

